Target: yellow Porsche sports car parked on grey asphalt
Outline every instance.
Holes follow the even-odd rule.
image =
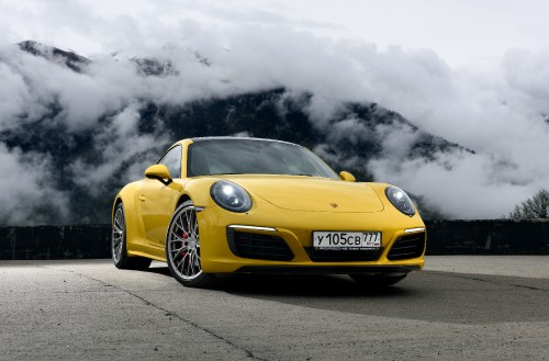
[[[164,261],[187,286],[234,272],[386,286],[424,266],[425,225],[404,191],[356,182],[279,140],[180,140],[120,191],[112,223],[117,268]]]

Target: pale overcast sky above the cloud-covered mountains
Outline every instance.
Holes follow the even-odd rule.
[[[0,29],[8,41],[33,38],[81,54],[115,50],[110,37],[123,24],[156,21],[176,27],[194,20],[290,26],[369,42],[381,50],[428,48],[451,66],[495,65],[511,48],[547,47],[548,15],[546,0],[0,1]]]

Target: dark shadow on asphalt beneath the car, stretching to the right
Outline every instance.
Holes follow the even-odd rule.
[[[148,271],[171,278],[167,267]],[[451,324],[545,321],[549,319],[546,290],[547,280],[429,271],[412,272],[385,289],[358,284],[347,275],[324,274],[231,274],[210,289],[221,296]]]

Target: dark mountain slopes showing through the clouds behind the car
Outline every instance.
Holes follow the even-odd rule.
[[[72,52],[35,42],[20,43],[19,47],[77,74],[87,74],[93,64]],[[212,66],[199,53],[192,54],[198,66]],[[177,77],[180,71],[170,61],[155,58],[133,58],[132,64],[141,77]],[[147,98],[133,102],[98,116],[93,127],[75,127],[70,112],[52,97],[40,116],[20,114],[15,125],[0,128],[0,144],[11,153],[19,151],[22,161],[47,159],[44,179],[48,193],[63,198],[63,202],[31,202],[31,221],[13,221],[0,213],[0,224],[109,223],[117,190],[138,178],[170,144],[187,137],[239,134],[288,140],[317,153],[335,170],[345,169],[368,181],[373,180],[368,167],[372,159],[429,162],[440,154],[471,153],[376,103],[341,102],[318,116],[312,112],[313,93],[284,87],[202,97],[179,104]],[[115,124],[126,113],[135,120],[134,128],[124,133],[130,136],[121,135]],[[425,204],[421,195],[415,200],[424,217],[441,216],[440,210]]]

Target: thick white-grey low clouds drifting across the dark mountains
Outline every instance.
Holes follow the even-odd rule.
[[[124,163],[131,155],[172,140],[161,120],[141,119],[145,104],[181,105],[280,87],[288,89],[288,97],[312,94],[311,121],[332,142],[382,136],[380,158],[361,166],[376,180],[422,195],[452,217],[498,217],[549,184],[544,157],[549,153],[549,125],[544,122],[549,113],[544,82],[549,77],[547,49],[509,50],[500,68],[480,72],[453,69],[434,50],[397,46],[380,50],[367,42],[295,30],[292,21],[280,18],[216,25],[184,16],[177,22],[132,14],[110,20],[93,12],[88,15],[78,5],[70,9],[82,30],[117,54],[85,54],[92,63],[76,72],[21,52],[10,44],[13,31],[0,36],[0,133],[24,133],[24,124],[46,117],[52,126],[65,126],[69,147],[71,136],[91,132],[90,153],[98,159],[70,158],[66,165],[76,184],[91,192],[120,169],[124,181],[141,177],[139,168],[150,156]],[[75,36],[82,34],[78,31]],[[136,68],[135,57],[156,59],[167,70],[146,76]],[[370,129],[352,116],[332,124],[348,102],[378,103],[475,154],[441,151],[429,161],[406,159],[404,151],[418,136],[414,128],[393,124]],[[153,133],[138,132],[144,121],[154,123]],[[324,150],[323,145],[316,148],[320,154]],[[55,172],[48,159],[47,154],[0,143],[0,166],[10,169],[8,174],[25,174],[0,181],[4,210],[0,216],[7,223],[29,219],[25,205],[46,195],[64,215],[68,201],[48,181]],[[358,160],[343,163],[354,161]]]

